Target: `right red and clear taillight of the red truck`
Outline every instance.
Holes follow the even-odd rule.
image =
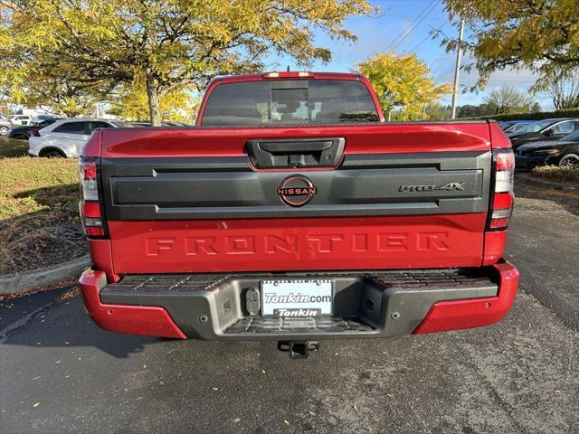
[[[515,156],[512,149],[496,149],[492,153],[494,185],[487,229],[506,229],[515,203]]]

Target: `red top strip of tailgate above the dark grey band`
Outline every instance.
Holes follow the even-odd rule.
[[[345,137],[344,154],[487,151],[489,124],[357,124],[305,127],[107,129],[103,158],[246,156],[255,138]],[[308,169],[306,169],[308,170]]]

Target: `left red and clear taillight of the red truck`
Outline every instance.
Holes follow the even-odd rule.
[[[100,212],[99,196],[99,163],[94,158],[81,158],[79,162],[81,175],[81,222],[85,233],[90,238],[103,238],[105,224]]]

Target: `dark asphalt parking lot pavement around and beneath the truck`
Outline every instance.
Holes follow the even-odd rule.
[[[492,327],[322,342],[101,331],[66,290],[0,306],[3,433],[579,433],[579,201],[519,188],[515,307]]]

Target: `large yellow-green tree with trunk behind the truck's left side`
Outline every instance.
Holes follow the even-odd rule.
[[[257,71],[271,52],[299,65],[329,61],[314,29],[353,41],[348,16],[365,0],[10,0],[1,4],[0,88],[24,98],[36,74],[90,95],[144,78],[150,118],[175,90],[218,74]],[[62,73],[65,71],[65,73]]]

